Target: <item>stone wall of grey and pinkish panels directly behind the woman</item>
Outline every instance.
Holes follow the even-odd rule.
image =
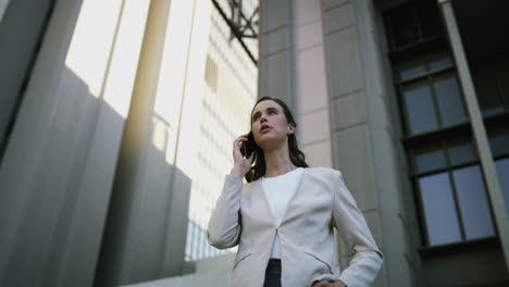
[[[375,286],[412,285],[415,221],[372,1],[262,1],[261,11],[260,97],[289,102],[311,164],[343,172],[387,253]],[[343,269],[350,258],[340,244]]]

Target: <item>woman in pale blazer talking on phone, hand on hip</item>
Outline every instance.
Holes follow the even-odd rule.
[[[258,100],[251,112],[257,147],[243,157],[247,135],[234,140],[234,166],[210,219],[209,244],[238,245],[235,287],[370,286],[382,252],[342,173],[308,167],[296,128],[283,101]],[[353,255],[340,274],[333,227]]]

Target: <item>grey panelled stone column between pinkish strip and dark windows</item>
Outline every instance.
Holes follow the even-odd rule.
[[[385,254],[374,286],[414,286],[414,216],[397,105],[383,64],[372,1],[321,1],[331,109],[333,166],[340,170]],[[339,261],[351,254],[340,242]]]

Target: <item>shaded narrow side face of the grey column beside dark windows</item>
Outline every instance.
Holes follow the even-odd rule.
[[[396,95],[384,63],[384,38],[371,0],[352,1],[361,62],[378,214],[383,226],[386,285],[419,286],[421,272],[417,215],[400,138]]]

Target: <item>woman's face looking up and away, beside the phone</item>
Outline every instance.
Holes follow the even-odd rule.
[[[251,115],[254,141],[262,149],[278,147],[295,133],[295,125],[286,122],[283,108],[275,101],[259,102]]]

